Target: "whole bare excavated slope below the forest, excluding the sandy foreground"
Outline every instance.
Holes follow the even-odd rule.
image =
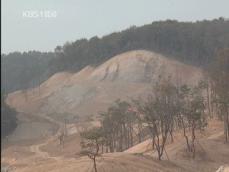
[[[7,103],[25,113],[45,113],[53,118],[96,114],[116,99],[144,96],[159,77],[176,83],[195,84],[202,77],[198,68],[160,54],[138,50],[113,57],[102,65],[78,73],[57,73],[40,87],[12,93]]]

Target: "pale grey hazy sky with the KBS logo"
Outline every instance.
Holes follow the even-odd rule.
[[[2,0],[2,52],[53,51],[157,20],[229,18],[228,8],[229,0]]]

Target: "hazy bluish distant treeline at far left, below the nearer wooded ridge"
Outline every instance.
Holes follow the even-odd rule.
[[[15,90],[35,87],[50,75],[49,62],[53,53],[30,51],[14,52],[1,56],[1,92],[7,94]]]

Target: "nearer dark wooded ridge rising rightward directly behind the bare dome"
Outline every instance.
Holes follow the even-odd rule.
[[[81,39],[57,46],[56,70],[76,71],[100,64],[112,56],[136,49],[147,49],[195,65],[208,64],[218,49],[229,46],[229,21],[223,18],[201,22],[172,20],[131,27],[102,38]]]

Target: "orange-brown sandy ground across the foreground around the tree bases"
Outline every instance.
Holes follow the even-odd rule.
[[[229,165],[229,144],[224,143],[222,131],[222,122],[214,120],[204,133],[198,134],[197,155],[194,160],[186,153],[185,141],[181,133],[177,132],[174,143],[166,145],[168,157],[164,155],[163,161],[157,160],[156,152],[150,149],[150,142],[146,140],[125,152],[103,154],[97,160],[98,171],[213,172],[221,166],[226,170]],[[3,150],[2,163],[19,172],[93,171],[91,160],[77,156],[80,150],[77,133],[66,138],[64,148],[54,138],[50,137],[43,143],[30,147],[9,147]],[[13,152],[17,154],[12,155]]]

